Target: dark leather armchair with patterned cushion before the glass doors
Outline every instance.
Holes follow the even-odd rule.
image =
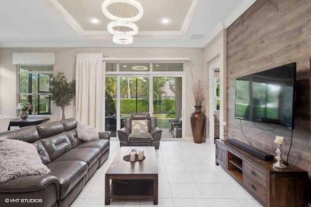
[[[158,150],[161,135],[156,117],[150,117],[149,113],[125,117],[124,127],[118,130],[120,146],[154,146]]]

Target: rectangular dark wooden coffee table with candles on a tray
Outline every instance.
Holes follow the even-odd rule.
[[[146,159],[127,162],[132,149],[144,150]],[[110,183],[111,180],[111,183]],[[158,203],[158,172],[155,147],[121,147],[105,173],[105,205],[110,199],[153,199]]]

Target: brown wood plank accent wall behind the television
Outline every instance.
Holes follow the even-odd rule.
[[[310,121],[311,0],[257,0],[227,28],[227,135],[245,143],[240,120],[234,118],[235,79],[288,63],[297,63],[297,102],[293,144],[288,158],[309,172],[311,180]],[[274,125],[257,123],[265,130]],[[283,136],[283,158],[290,147],[291,130],[259,129],[242,121],[243,132],[254,147],[275,155],[276,136]]]

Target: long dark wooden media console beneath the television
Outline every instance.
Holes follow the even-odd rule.
[[[216,140],[216,165],[220,165],[265,207],[307,207],[308,172],[294,165],[273,167],[227,141]]]

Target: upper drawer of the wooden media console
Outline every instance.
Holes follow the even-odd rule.
[[[249,163],[243,163],[243,172],[245,175],[250,177],[251,179],[257,181],[262,185],[262,187],[266,188],[267,186],[267,174],[260,171],[258,168],[250,165]]]

